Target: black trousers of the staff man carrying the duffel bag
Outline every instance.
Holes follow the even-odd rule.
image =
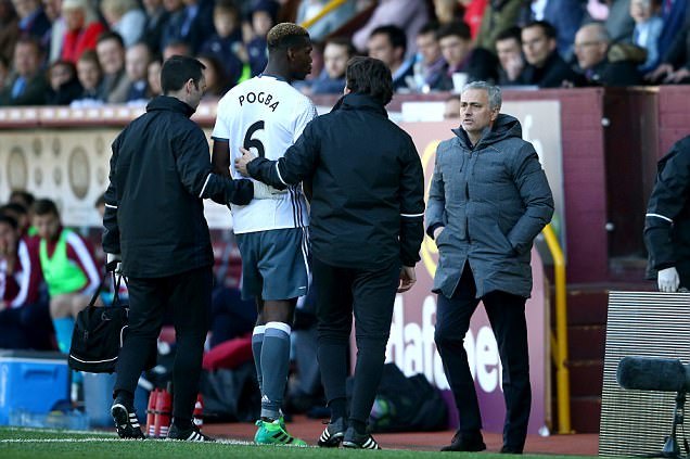
[[[156,278],[129,278],[129,329],[117,360],[115,392],[133,394],[156,347],[166,308],[173,309],[177,349],[173,368],[173,416],[191,420],[199,393],[209,326],[212,268]]]

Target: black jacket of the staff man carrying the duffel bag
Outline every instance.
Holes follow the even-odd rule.
[[[159,95],[113,142],[103,250],[122,254],[125,276],[162,278],[212,266],[203,200],[246,204],[254,195],[250,180],[212,174],[208,141],[193,113]]]

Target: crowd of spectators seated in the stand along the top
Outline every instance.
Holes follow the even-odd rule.
[[[218,99],[263,72],[273,24],[327,3],[0,0],[0,105],[145,103],[175,54],[206,65]],[[355,54],[382,60],[398,92],[690,82],[686,0],[346,0],[308,30],[308,94],[342,92]]]

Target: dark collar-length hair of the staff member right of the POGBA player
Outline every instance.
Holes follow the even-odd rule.
[[[369,94],[386,105],[393,99],[391,69],[373,58],[355,56],[347,62],[346,86],[352,92]]]

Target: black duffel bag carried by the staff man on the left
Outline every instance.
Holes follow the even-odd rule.
[[[114,295],[111,306],[94,306],[103,284],[113,276]],[[117,278],[117,279],[116,279]],[[77,314],[72,334],[68,365],[73,370],[89,373],[112,373],[127,332],[127,305],[122,304],[118,291],[122,276],[106,272],[93,293],[89,305]]]

